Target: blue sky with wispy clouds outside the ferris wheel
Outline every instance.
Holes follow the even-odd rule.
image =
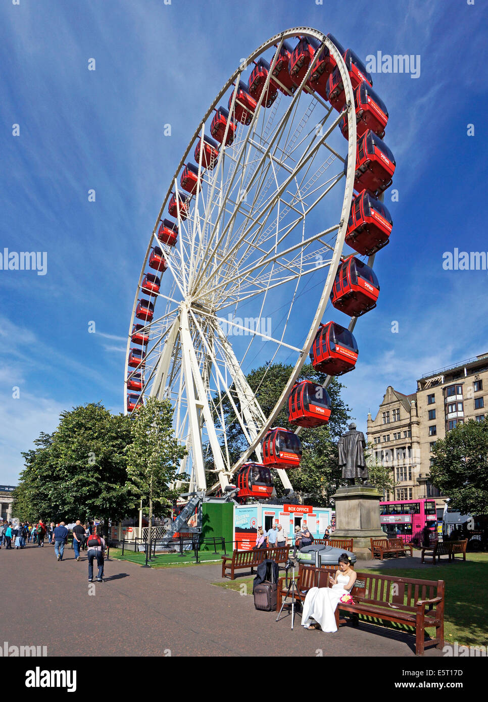
[[[15,484],[20,451],[62,409],[122,411],[133,296],[169,179],[239,59],[289,27],[332,32],[363,59],[421,57],[418,79],[374,75],[399,199],[385,197],[378,307],[343,378],[358,425],[388,385],[414,392],[423,373],[488,351],[487,271],[442,268],[454,247],[488,251],[487,15],[482,0],[4,0],[0,253],[46,251],[48,267],[0,270],[0,482]]]

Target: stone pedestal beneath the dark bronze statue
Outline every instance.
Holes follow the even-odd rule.
[[[357,559],[371,560],[370,538],[386,538],[381,529],[380,500],[372,485],[340,487],[336,501],[336,531],[331,538],[354,538],[353,551]]]

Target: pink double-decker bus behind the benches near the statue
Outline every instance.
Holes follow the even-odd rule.
[[[423,529],[428,528],[429,541],[437,540],[435,500],[398,500],[380,502],[381,528],[388,538],[402,538],[419,545],[426,541]]]

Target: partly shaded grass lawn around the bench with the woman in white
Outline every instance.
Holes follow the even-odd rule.
[[[367,569],[365,573],[381,573],[383,575],[404,578],[420,578],[422,580],[443,580],[446,583],[444,604],[444,640],[446,643],[462,644],[463,646],[486,646],[488,641],[488,611],[486,583],[488,580],[488,553],[467,553],[466,563],[457,560],[440,565],[425,565],[418,568],[388,568]],[[237,578],[235,581],[213,583],[221,588],[236,590],[242,594],[251,595],[253,577]],[[245,588],[242,586],[245,585]],[[363,618],[363,617],[362,617]],[[367,617],[370,622],[379,620]],[[383,622],[383,625],[395,629],[411,630],[401,624]],[[435,635],[435,629],[428,629],[429,634]]]

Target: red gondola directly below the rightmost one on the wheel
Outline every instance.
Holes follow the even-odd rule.
[[[382,202],[367,190],[357,195],[351,204],[345,243],[363,256],[371,256],[390,241],[393,220]]]

